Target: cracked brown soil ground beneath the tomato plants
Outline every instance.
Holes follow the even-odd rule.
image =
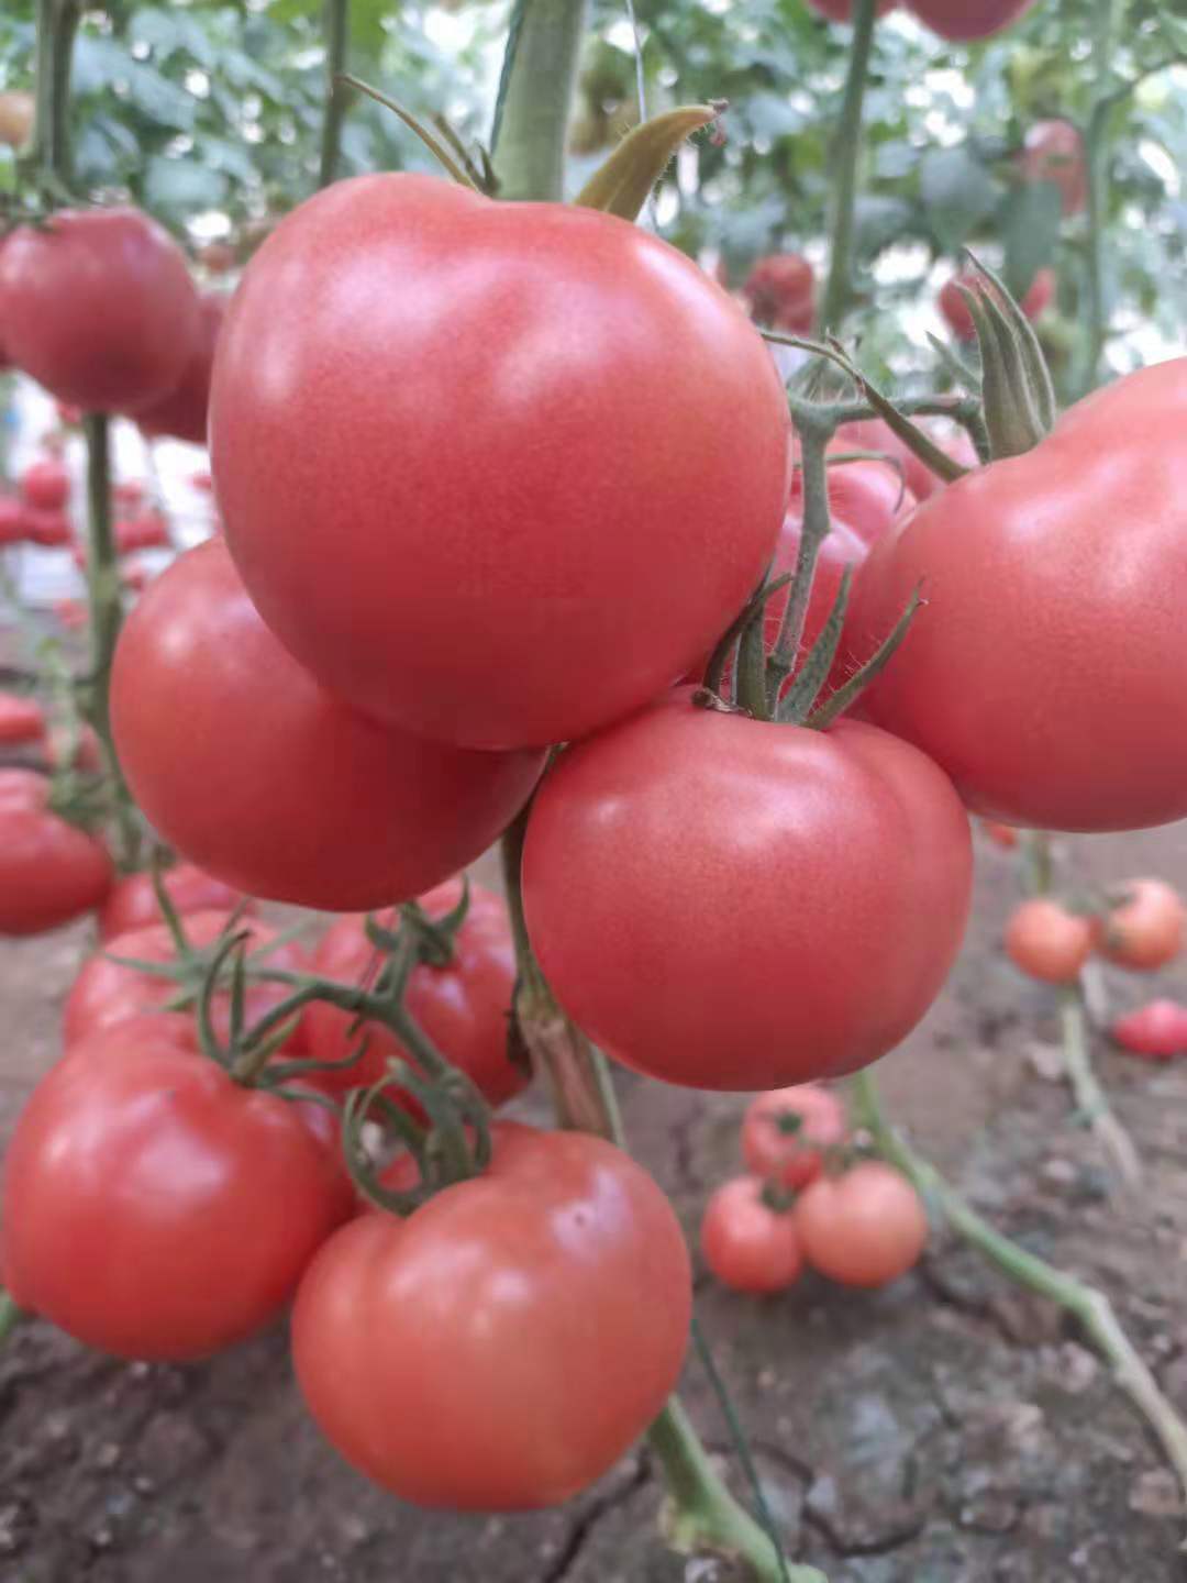
[[[1187,826],[1075,844],[1079,874],[1187,886]],[[999,948],[1014,894],[983,847],[958,972],[882,1065],[921,1148],[992,1220],[1102,1285],[1187,1409],[1187,1064],[1097,1050],[1146,1184],[1117,1195],[1052,1075],[1054,1004]],[[0,1138],[57,1054],[85,928],[0,950]],[[794,964],[788,964],[788,989]],[[1176,983],[1178,977],[1178,983]],[[1166,975],[1187,991],[1187,969]],[[1116,1004],[1151,991],[1108,980]],[[1057,1064],[1056,1064],[1057,1072]],[[738,1168],[741,1097],[622,1080],[641,1159],[690,1236]],[[788,1550],[832,1583],[1171,1583],[1184,1513],[1157,1445],[1062,1315],[937,1236],[893,1289],[804,1279],[745,1300],[698,1277],[704,1330]],[[579,1368],[579,1360],[575,1361]],[[687,1399],[723,1458],[706,1382]],[[733,1463],[730,1464],[733,1466]],[[662,1490],[630,1460],[563,1510],[411,1510],[350,1472],[305,1418],[285,1334],[193,1368],[114,1363],[41,1323],[0,1355],[3,1583],[725,1583],[657,1537]]]

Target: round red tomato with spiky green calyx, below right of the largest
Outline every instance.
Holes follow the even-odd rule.
[[[668,1083],[753,1091],[864,1067],[956,956],[964,809],[869,725],[766,725],[692,697],[544,777],[524,853],[544,974],[597,1043]]]

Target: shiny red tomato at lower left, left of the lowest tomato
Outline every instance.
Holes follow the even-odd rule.
[[[280,1314],[351,1213],[321,1108],[234,1083],[192,1023],[92,1034],[33,1091],[5,1157],[21,1308],[125,1358],[201,1358]]]

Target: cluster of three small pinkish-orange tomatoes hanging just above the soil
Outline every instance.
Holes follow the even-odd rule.
[[[850,1287],[897,1281],[927,1243],[920,1195],[882,1160],[850,1159],[845,1107],[815,1083],[758,1094],[742,1122],[749,1175],[701,1220],[701,1254],[736,1292],[782,1292],[804,1266]]]

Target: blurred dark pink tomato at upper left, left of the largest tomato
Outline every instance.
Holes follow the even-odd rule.
[[[182,377],[198,293],[177,244],[139,209],[60,209],[0,252],[13,363],[89,412],[135,412]]]

